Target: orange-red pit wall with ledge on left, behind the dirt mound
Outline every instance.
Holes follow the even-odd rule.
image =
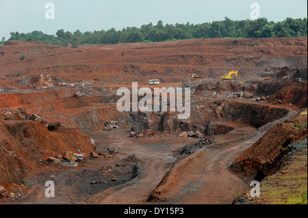
[[[76,92],[86,96],[74,98]],[[120,118],[121,124],[127,120],[125,114],[119,114],[115,103],[116,94],[107,88],[55,88],[33,93],[0,94],[0,109],[23,107],[28,115],[38,113],[42,120],[62,122],[63,126],[80,128],[86,134],[103,130],[107,120]]]

